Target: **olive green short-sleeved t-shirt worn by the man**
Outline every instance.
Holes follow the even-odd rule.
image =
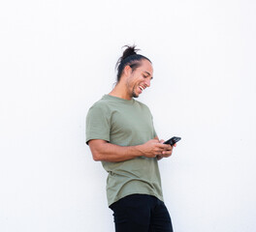
[[[128,101],[105,95],[90,107],[86,117],[86,143],[90,139],[103,139],[119,146],[135,146],[155,136],[148,107],[134,99]],[[102,161],[102,164],[109,173],[109,206],[134,193],[154,195],[163,201],[156,158],[138,157],[118,162]]]

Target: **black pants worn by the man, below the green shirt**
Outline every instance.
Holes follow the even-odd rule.
[[[113,203],[115,232],[173,232],[164,202],[154,196],[132,194]]]

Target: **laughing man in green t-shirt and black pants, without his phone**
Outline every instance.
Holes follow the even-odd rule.
[[[150,60],[127,46],[117,62],[117,83],[93,104],[86,118],[86,143],[109,172],[107,196],[116,232],[172,232],[163,202],[158,160],[172,155],[154,131],[148,107],[134,100],[150,86]]]

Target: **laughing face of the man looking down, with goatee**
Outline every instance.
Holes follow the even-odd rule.
[[[153,68],[149,61],[142,60],[142,65],[137,68],[126,80],[126,86],[131,98],[138,98],[144,89],[150,86],[153,78]]]

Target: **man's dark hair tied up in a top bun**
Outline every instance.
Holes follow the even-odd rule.
[[[130,66],[132,68],[132,72],[134,72],[138,67],[142,65],[142,60],[148,60],[150,63],[151,61],[144,57],[143,55],[137,54],[137,51],[140,49],[135,48],[136,45],[125,45],[127,48],[123,51],[122,56],[118,59],[115,68],[117,70],[117,82],[120,80],[122,75],[123,69],[126,66]]]

